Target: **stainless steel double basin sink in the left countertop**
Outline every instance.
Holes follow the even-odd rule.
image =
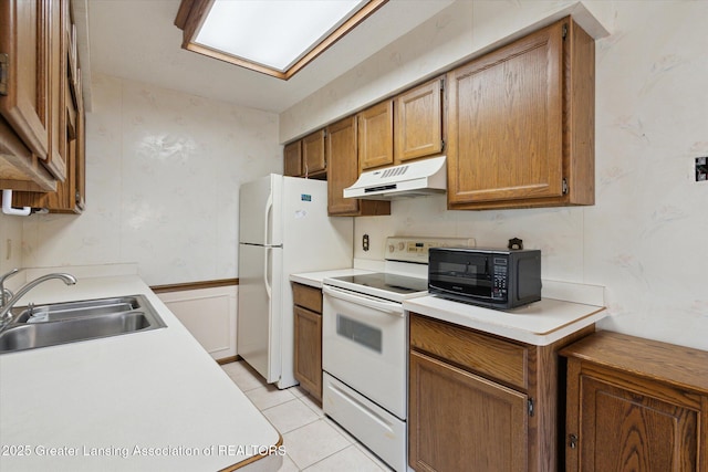
[[[144,295],[52,303],[13,310],[0,354],[166,327]]]

